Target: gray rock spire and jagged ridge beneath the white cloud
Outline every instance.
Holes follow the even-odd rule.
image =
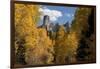
[[[65,24],[63,24],[63,26],[65,27],[65,31],[68,32],[69,31],[69,23],[66,22]],[[59,30],[59,23],[53,23],[50,21],[50,17],[48,15],[45,15],[43,17],[43,24],[41,26],[39,26],[39,28],[45,28],[47,30],[47,32],[50,33],[56,33]]]

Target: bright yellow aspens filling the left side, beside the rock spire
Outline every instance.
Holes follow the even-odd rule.
[[[20,59],[23,54],[23,61],[28,65],[50,64],[53,61],[52,41],[45,29],[36,27],[40,14],[38,8],[36,5],[15,4],[15,38],[19,42],[15,43],[18,46],[17,56]]]

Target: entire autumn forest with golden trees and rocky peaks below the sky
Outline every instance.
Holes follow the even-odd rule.
[[[77,7],[70,23],[59,24],[49,15],[41,20],[42,5],[14,6],[15,66],[96,62],[93,7]]]

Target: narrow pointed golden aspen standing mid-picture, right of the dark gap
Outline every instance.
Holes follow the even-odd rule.
[[[56,63],[65,63],[66,57],[66,44],[65,44],[65,30],[63,26],[60,26],[57,32],[57,39],[55,40],[55,59]]]

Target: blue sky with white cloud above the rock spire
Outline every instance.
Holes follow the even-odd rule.
[[[44,15],[48,15],[52,23],[59,23],[61,25],[69,22],[71,24],[75,11],[76,7],[42,5],[39,8],[39,12],[42,13],[39,24],[43,23]]]

